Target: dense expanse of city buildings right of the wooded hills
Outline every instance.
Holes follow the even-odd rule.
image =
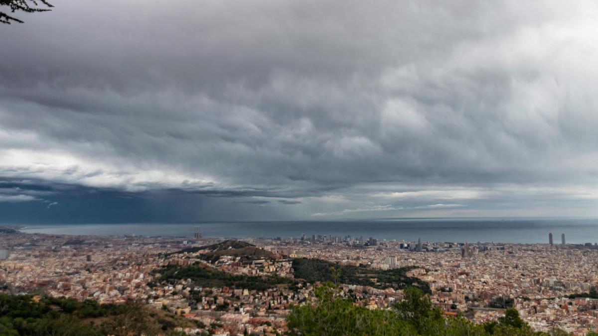
[[[563,235],[564,237],[564,235]],[[515,307],[532,328],[564,329],[585,335],[598,329],[592,298],[570,299],[598,286],[595,245],[397,242],[356,247],[330,241],[258,239],[255,243],[292,257],[319,258],[379,269],[419,267],[414,275],[432,290],[432,301],[447,313],[474,322],[496,320]],[[421,252],[421,253],[420,253]],[[429,252],[429,253],[426,253]],[[434,253],[435,252],[435,253]],[[401,298],[368,291],[370,306],[385,307]]]

